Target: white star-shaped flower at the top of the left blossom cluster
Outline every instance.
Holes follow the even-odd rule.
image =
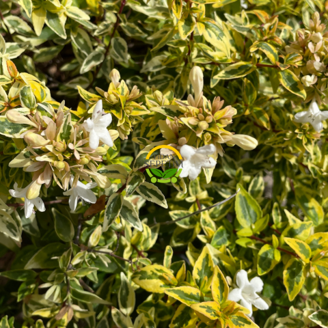
[[[102,100],[98,100],[92,113],[92,118],[84,121],[85,130],[90,132],[89,146],[96,149],[99,146],[99,139],[109,147],[113,147],[113,140],[107,130],[107,126],[111,124],[111,114],[102,115]]]

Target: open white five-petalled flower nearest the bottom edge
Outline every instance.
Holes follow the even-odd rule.
[[[256,294],[257,292],[261,292],[263,289],[263,282],[260,277],[254,277],[249,282],[247,272],[245,270],[241,270],[237,273],[236,283],[239,288],[231,290],[231,292],[229,292],[228,299],[235,302],[241,301],[241,305],[251,312],[247,314],[247,316],[251,316],[253,314],[251,305],[254,305],[260,310],[269,309],[269,305],[261,299],[258,294]]]

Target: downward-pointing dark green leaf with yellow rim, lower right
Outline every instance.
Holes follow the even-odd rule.
[[[288,299],[295,299],[305,282],[305,265],[297,258],[291,258],[284,268],[284,285]]]

